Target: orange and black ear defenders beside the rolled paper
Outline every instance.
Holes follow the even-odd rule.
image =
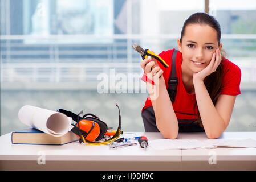
[[[84,114],[83,117],[80,117],[80,114],[83,114],[83,111],[81,111],[79,114],[75,114],[71,111],[58,109],[57,112],[63,113],[67,115],[67,117],[71,117],[72,120],[76,122],[75,125],[72,124],[74,127],[71,129],[71,131],[79,137],[83,136],[90,142],[101,140],[108,130],[107,124],[101,121],[100,118],[94,114],[88,113]]]

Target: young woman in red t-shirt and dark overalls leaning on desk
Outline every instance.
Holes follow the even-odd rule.
[[[195,13],[185,21],[177,41],[178,84],[173,102],[168,81],[174,49],[159,55],[168,68],[155,59],[141,61],[144,73],[155,82],[147,82],[148,91],[152,87],[158,92],[156,98],[149,92],[143,107],[145,131],[160,131],[168,139],[176,139],[179,131],[204,131],[210,139],[221,136],[241,94],[241,70],[221,55],[220,41],[220,24],[213,16]]]

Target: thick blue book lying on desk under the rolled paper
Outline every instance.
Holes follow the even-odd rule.
[[[78,140],[78,136],[72,133],[72,131],[68,131],[62,137],[54,137],[34,128],[13,131],[11,133],[11,143],[13,144],[63,145]]]

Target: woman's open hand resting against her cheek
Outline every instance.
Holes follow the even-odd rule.
[[[207,67],[202,69],[200,72],[193,73],[193,82],[204,81],[206,76],[216,71],[220,63],[221,63],[221,52],[219,49],[216,49],[216,51],[213,53],[210,64],[208,64]]]

